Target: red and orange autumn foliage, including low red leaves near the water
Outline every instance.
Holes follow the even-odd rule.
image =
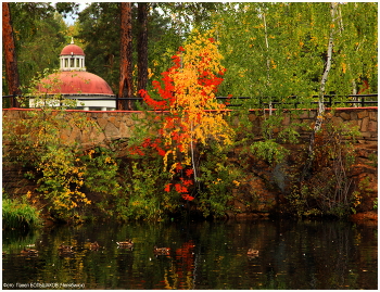
[[[170,158],[172,181],[164,191],[175,191],[185,200],[192,201],[189,189],[194,177],[190,151],[198,143],[204,143],[205,137],[226,140],[226,124],[220,114],[210,114],[205,110],[223,110],[215,93],[221,84],[226,69],[220,65],[221,55],[213,38],[198,35],[192,41],[180,47],[172,56],[174,65],[162,73],[161,81],[153,81],[153,89],[160,98],[152,98],[141,89],[140,96],[154,111],[166,111],[161,116],[160,139],[145,139],[140,147],[132,149],[135,154],[144,155],[143,149],[155,150],[163,156],[164,169]],[[221,125],[221,126],[220,126]],[[225,127],[225,128],[223,128]]]

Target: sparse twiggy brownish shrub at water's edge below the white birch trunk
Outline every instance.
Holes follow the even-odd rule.
[[[352,179],[347,176],[355,161],[350,138],[355,135],[355,129],[345,125],[337,126],[329,120],[322,125],[315,138],[311,174],[301,183],[294,181],[293,191],[287,195],[292,215],[344,217],[360,204],[359,193],[352,191]]]

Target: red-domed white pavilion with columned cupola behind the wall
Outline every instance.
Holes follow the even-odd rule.
[[[60,71],[38,85],[38,91],[48,96],[62,94],[78,98],[78,110],[115,110],[115,94],[107,82],[85,67],[84,50],[72,42],[60,54]],[[109,100],[104,100],[109,99]]]

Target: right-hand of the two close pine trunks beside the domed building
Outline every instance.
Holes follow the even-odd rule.
[[[148,3],[138,2],[139,37],[138,50],[138,81],[137,92],[147,89],[148,82]]]

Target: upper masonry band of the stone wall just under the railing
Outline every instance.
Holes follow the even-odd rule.
[[[17,123],[21,118],[26,118],[26,111],[21,109],[7,109],[2,111],[3,123],[14,120]],[[31,110],[33,111],[33,110]],[[62,130],[61,139],[65,141],[76,140],[85,148],[96,144],[107,143],[113,140],[128,139],[134,132],[136,120],[143,120],[145,113],[134,111],[66,111],[66,118],[73,117],[79,113],[86,115],[87,119],[98,124],[100,131],[91,129],[89,132],[80,130],[74,124]],[[344,123],[350,127],[357,127],[360,135],[357,137],[359,143],[377,144],[378,141],[378,107],[344,107],[335,109],[333,112],[327,110],[329,118],[332,123]],[[157,114],[165,114],[160,112]],[[268,114],[268,113],[266,113]],[[300,116],[292,116],[290,113],[283,113],[284,119],[282,126],[288,126],[291,123],[305,123],[312,126],[315,122],[317,111],[305,110]],[[262,111],[250,111],[250,120],[252,122],[252,131],[257,139],[261,139],[262,123],[264,120]],[[275,129],[276,131],[276,129]],[[299,128],[301,137],[307,139],[309,130],[307,127]]]

